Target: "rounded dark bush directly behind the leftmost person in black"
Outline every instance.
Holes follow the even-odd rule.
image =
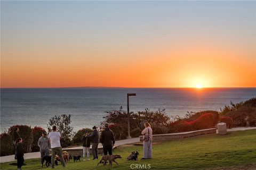
[[[23,150],[25,153],[31,152],[31,146],[33,143],[33,133],[31,126],[28,125],[13,125],[9,128],[8,133],[13,137],[15,128],[19,128],[20,137],[23,139]]]

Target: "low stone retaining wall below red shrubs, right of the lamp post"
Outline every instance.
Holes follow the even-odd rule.
[[[203,134],[216,133],[216,128],[203,129],[198,131],[181,132],[181,133],[167,133],[167,134],[153,134],[153,141],[167,141],[175,139],[183,139],[195,137]],[[140,136],[140,141],[143,141],[143,136]]]

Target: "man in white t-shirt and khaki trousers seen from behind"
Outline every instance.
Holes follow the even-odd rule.
[[[57,132],[57,127],[52,127],[52,132],[49,133],[49,138],[51,142],[51,148],[52,148],[52,168],[54,168],[54,160],[56,154],[60,157],[60,162],[63,167],[66,167],[66,164],[64,162],[63,156],[62,156],[62,148],[60,146],[60,132]]]

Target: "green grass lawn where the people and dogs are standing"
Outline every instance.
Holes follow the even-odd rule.
[[[256,169],[256,130],[229,132],[227,135],[209,134],[182,140],[153,143],[153,158],[140,160],[143,146],[122,146],[127,152],[138,150],[138,161],[127,161],[129,153],[115,149],[114,154],[123,158],[117,159],[119,167],[113,163],[97,167],[98,160],[74,163],[70,160],[67,167],[55,166],[55,169],[131,169],[131,164],[147,165],[151,169],[214,169],[243,167],[250,165]],[[25,160],[22,169],[42,169],[38,159]],[[13,163],[13,162],[12,162]],[[17,169],[10,163],[2,163],[1,169]],[[134,167],[135,165],[132,165]],[[46,169],[44,166],[43,169]],[[50,169],[50,167],[49,167]]]

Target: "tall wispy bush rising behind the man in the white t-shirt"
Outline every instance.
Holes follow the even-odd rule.
[[[60,132],[60,143],[62,147],[67,147],[71,145],[71,139],[74,136],[73,127],[70,126],[71,115],[60,115],[53,116],[49,120],[49,125],[47,124],[48,132],[52,130],[52,126],[57,126],[57,129]]]

